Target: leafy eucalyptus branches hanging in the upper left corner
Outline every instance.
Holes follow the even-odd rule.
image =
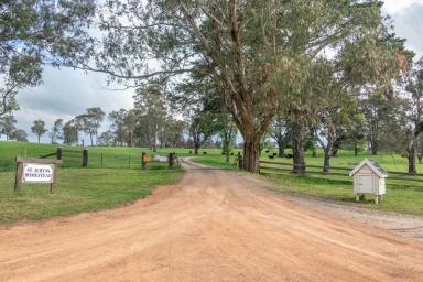
[[[95,1],[0,2],[0,116],[18,109],[15,95],[42,80],[43,65],[85,61]]]

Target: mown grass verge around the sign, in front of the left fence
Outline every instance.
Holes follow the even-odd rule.
[[[0,173],[0,223],[37,220],[54,216],[108,209],[151,194],[158,185],[175,183],[182,170],[62,169],[55,194],[48,185],[23,184],[13,194],[13,172]]]

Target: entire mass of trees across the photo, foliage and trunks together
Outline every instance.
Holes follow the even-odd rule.
[[[177,144],[181,133],[175,132],[183,126],[167,108],[174,102],[189,111],[187,128],[196,148],[217,128],[227,147],[239,130],[243,167],[250,172],[259,169],[267,134],[281,150],[292,145],[297,173],[303,173],[307,144],[324,149],[328,171],[345,140],[358,150],[364,138],[373,153],[406,143],[412,172],[423,128],[419,64],[413,68],[412,52],[391,33],[382,4],[108,0],[96,7],[94,1],[9,1],[0,9],[2,33],[8,35],[0,40],[6,50],[1,73],[35,74],[23,76],[31,78],[26,85],[34,85],[41,80],[41,66],[51,63],[102,72],[138,87],[133,109],[110,113],[112,127],[99,138],[105,143]],[[29,19],[22,23],[15,22],[20,17],[8,17],[22,11],[34,17],[22,17]],[[101,31],[95,37],[90,24]],[[29,57],[31,64],[8,61],[20,44],[29,46],[22,59]],[[14,96],[7,97],[3,108],[15,108]],[[68,124],[74,132],[66,142],[77,142],[84,128],[79,123],[75,118]],[[393,132],[406,138],[392,140]]]

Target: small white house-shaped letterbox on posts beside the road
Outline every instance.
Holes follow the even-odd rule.
[[[383,195],[387,193],[386,178],[388,177],[388,172],[376,161],[370,159],[364,160],[349,173],[349,176],[354,177],[354,194],[356,194],[357,202],[365,194],[375,195],[376,204],[382,200]]]

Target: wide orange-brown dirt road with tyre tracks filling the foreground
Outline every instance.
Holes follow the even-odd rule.
[[[0,228],[0,281],[423,281],[423,245],[187,164],[134,205]]]

